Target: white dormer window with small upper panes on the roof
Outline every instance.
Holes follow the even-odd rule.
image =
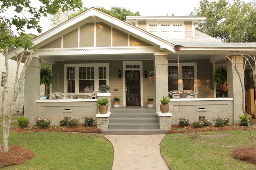
[[[162,39],[185,39],[184,22],[147,22],[147,31]]]

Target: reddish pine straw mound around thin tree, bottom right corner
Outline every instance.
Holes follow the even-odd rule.
[[[233,156],[241,161],[256,164],[256,150],[252,146],[236,148],[233,152]]]

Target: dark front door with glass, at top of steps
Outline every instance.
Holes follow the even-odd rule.
[[[125,71],[126,106],[140,106],[140,71]]]

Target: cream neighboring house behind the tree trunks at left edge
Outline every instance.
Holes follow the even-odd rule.
[[[15,75],[17,70],[17,62],[14,60],[8,60],[9,64],[9,82],[8,82],[8,91],[6,92],[6,104],[10,105],[11,100],[13,98],[13,85],[15,81]],[[21,63],[21,67],[23,67],[23,63]],[[22,68],[20,68],[19,73],[21,73]],[[6,85],[4,79],[6,76],[6,69],[5,69],[5,57],[2,55],[0,56],[0,75],[1,75],[1,87],[0,87],[0,99],[2,101],[2,92],[3,87]],[[13,114],[22,114],[23,113],[23,106],[24,106],[24,80],[21,85],[20,94],[17,97],[17,101],[15,103]],[[1,105],[0,105],[0,114],[1,113]]]

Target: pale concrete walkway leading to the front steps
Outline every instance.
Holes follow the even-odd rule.
[[[114,146],[113,170],[168,170],[161,154],[160,142],[165,135],[105,135]]]

